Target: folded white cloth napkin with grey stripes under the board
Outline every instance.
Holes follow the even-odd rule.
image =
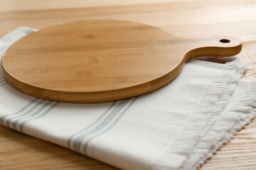
[[[9,45],[36,31],[21,27]],[[58,103],[11,87],[0,74],[0,123],[121,169],[196,169],[255,117],[256,84],[238,61],[192,60],[149,94],[109,103]]]

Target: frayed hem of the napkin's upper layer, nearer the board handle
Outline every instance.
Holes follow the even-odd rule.
[[[230,72],[223,72],[225,70]],[[181,132],[154,159],[150,169],[181,169],[183,162],[186,162],[193,152],[193,146],[201,140],[225,108],[244,72],[245,66],[237,60],[223,64],[223,69],[220,69],[213,81],[206,87],[186,124],[181,128]],[[198,159],[196,162],[199,161]]]

